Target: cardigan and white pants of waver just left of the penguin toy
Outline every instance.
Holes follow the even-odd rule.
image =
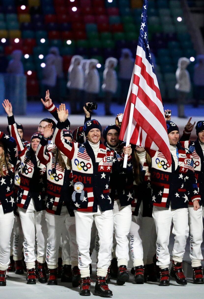
[[[57,271],[58,251],[63,227],[66,226],[70,243],[71,266],[78,266],[76,245],[76,229],[73,210],[70,210],[70,201],[73,193],[72,171],[62,167],[56,162],[53,152],[46,152],[47,140],[41,139],[37,149],[37,157],[47,169],[47,195],[46,195],[46,222],[48,229],[46,262],[48,269]],[[67,157],[65,157],[67,159]],[[53,171],[54,170],[54,171]],[[63,259],[62,259],[63,260]],[[63,260],[62,265],[69,265]],[[52,273],[53,275],[53,273]],[[53,280],[53,279],[52,279]],[[56,280],[56,279],[54,279]],[[79,279],[78,279],[79,280]],[[56,284],[48,280],[48,284]],[[78,284],[79,285],[79,284]]]

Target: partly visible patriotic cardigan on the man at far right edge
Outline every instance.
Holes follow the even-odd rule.
[[[181,142],[181,145],[192,152],[195,177],[201,196],[201,202],[204,205],[204,155],[199,140]]]

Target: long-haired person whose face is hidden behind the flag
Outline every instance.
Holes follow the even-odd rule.
[[[133,154],[134,200],[131,204],[130,248],[135,282],[139,284],[144,281],[157,281],[153,264],[157,234],[152,218],[150,172],[150,156],[143,147],[136,146]]]

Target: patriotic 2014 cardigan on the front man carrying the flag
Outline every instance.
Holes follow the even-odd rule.
[[[84,198],[71,201],[70,208],[83,212],[96,212],[98,205],[102,211],[112,210],[113,204],[109,196],[109,180],[111,169],[114,175],[120,178],[122,172],[122,158],[102,142],[99,145],[97,158],[88,140],[84,144],[69,142],[64,139],[63,122],[58,122],[53,141],[72,163],[73,184],[82,182],[84,185]]]

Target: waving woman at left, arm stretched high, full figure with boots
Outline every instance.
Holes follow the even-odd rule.
[[[24,260],[27,268],[27,284],[36,284],[35,262],[37,260],[38,280],[47,282],[45,256],[47,245],[47,225],[45,221],[46,167],[40,163],[36,150],[42,138],[41,133],[31,137],[30,148],[27,149],[17,131],[12,105],[4,100],[4,109],[8,114],[11,135],[16,140],[21,160],[20,186],[17,206],[24,234]],[[36,229],[36,233],[35,233]],[[37,257],[35,254],[35,238],[37,240]]]

